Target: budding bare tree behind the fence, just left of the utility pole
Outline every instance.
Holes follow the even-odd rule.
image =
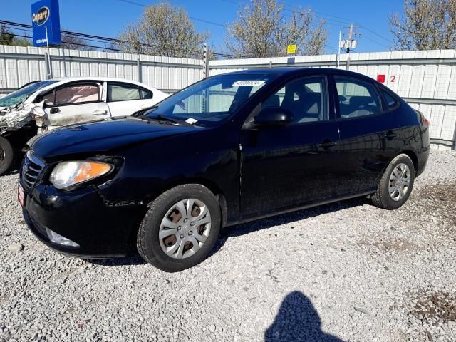
[[[296,44],[296,53],[323,53],[328,33],[325,21],[316,24],[311,9],[293,11],[286,19],[277,0],[251,0],[228,26],[227,52],[236,56],[285,56],[286,46]]]

